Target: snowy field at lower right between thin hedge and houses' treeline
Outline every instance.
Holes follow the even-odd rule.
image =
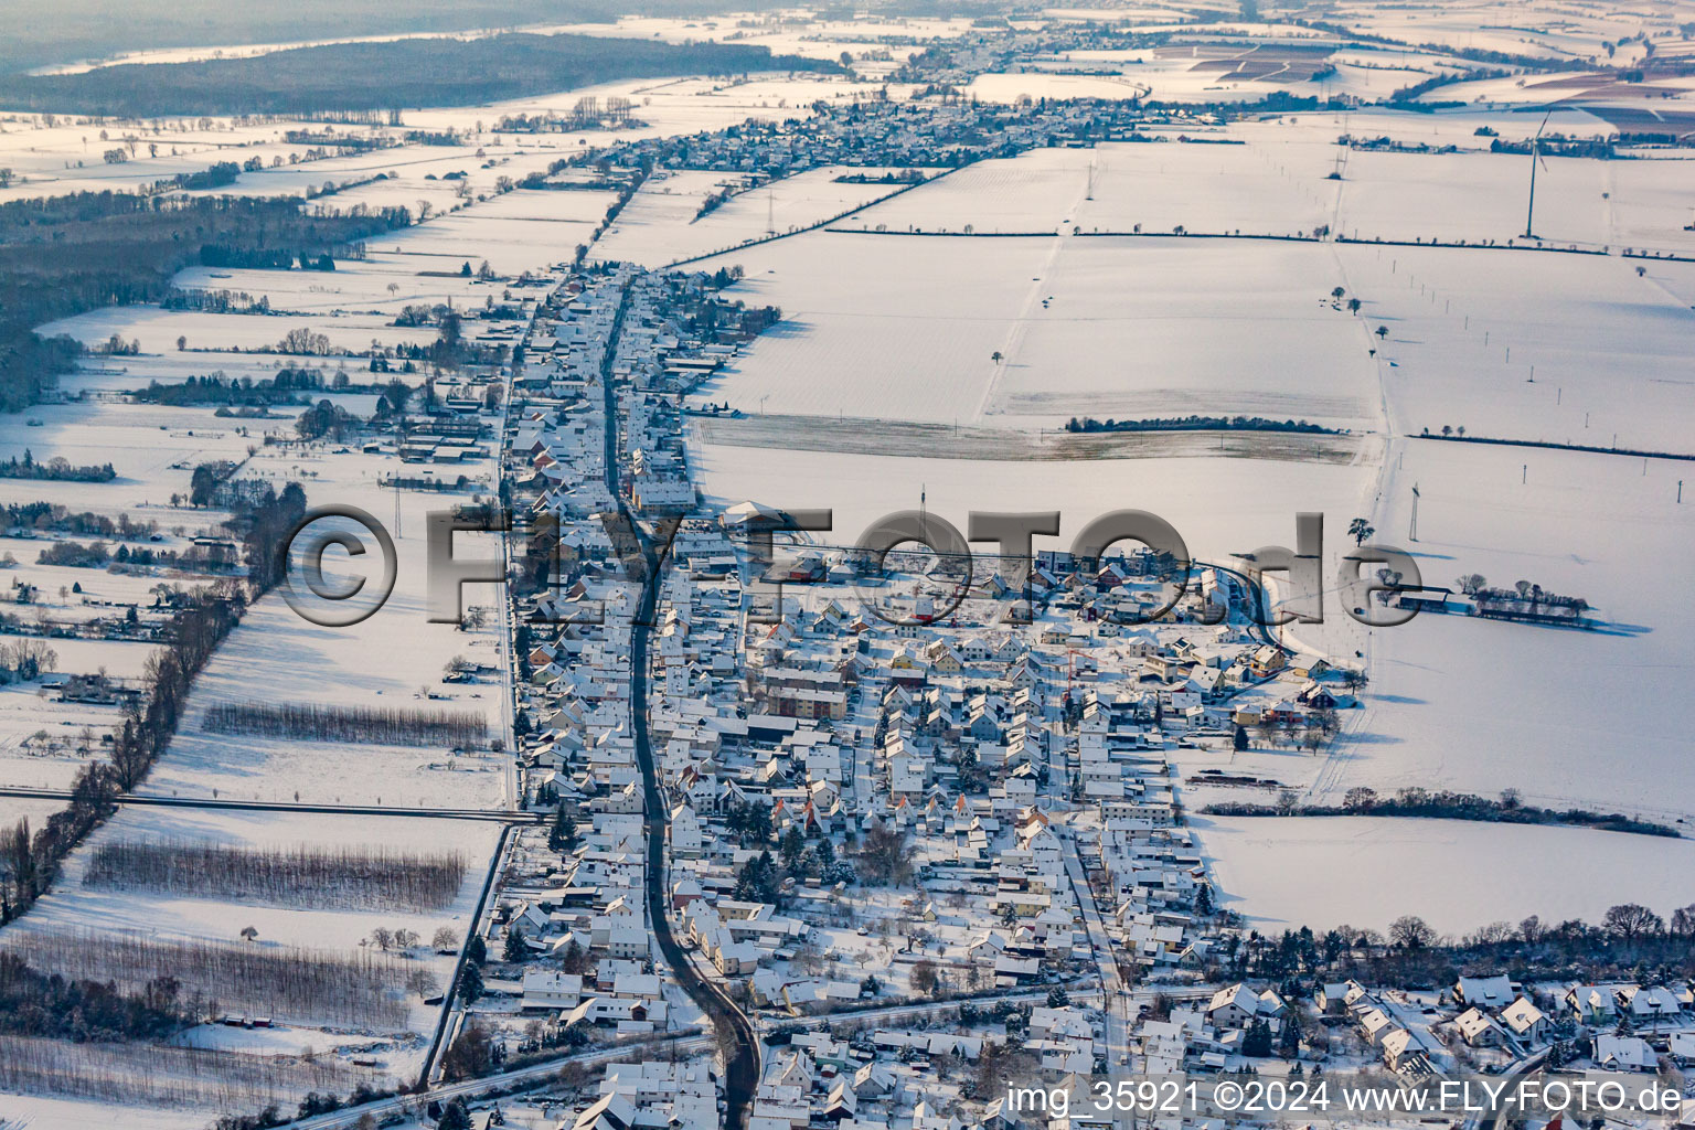
[[[1600,922],[1615,903],[1687,906],[1695,842],[1593,828],[1395,817],[1192,817],[1219,906],[1261,932],[1439,933],[1492,922]]]

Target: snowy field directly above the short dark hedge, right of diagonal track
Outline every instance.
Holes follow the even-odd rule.
[[[1375,427],[1376,373],[1366,335],[1329,302],[1339,283],[1319,244],[1066,239],[1041,302],[1009,327],[985,418]]]

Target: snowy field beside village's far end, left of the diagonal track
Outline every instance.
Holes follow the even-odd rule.
[[[820,230],[707,259],[741,264],[727,295],[781,307],[783,322],[702,393],[744,412],[971,420],[1053,244]]]

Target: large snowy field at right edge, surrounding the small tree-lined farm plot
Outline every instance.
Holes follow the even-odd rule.
[[[1329,654],[1366,652],[1364,710],[1317,771],[1312,796],[1353,786],[1458,789],[1527,803],[1695,822],[1695,766],[1671,703],[1695,676],[1695,612],[1673,596],[1695,544],[1676,503],[1685,461],[1402,440],[1373,512],[1414,549],[1425,584],[1481,574],[1581,596],[1593,630],[1419,615],[1364,632],[1334,618],[1290,627]],[[1419,540],[1407,542],[1417,485]],[[1668,588],[1670,586],[1670,588]],[[1322,634],[1320,634],[1322,632]],[[1619,901],[1619,900],[1614,900]]]

